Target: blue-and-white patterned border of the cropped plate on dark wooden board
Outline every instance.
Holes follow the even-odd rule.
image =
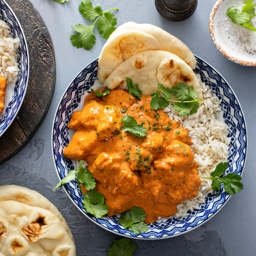
[[[16,117],[25,97],[29,79],[29,52],[22,27],[20,26],[20,23],[15,14],[4,0],[0,0],[0,20],[5,21],[10,26],[10,34],[13,38],[20,38],[20,46],[17,50],[17,61],[20,72],[18,75],[18,79],[15,83],[14,95],[12,97],[12,100],[9,102],[6,108],[6,112],[2,115],[0,119],[1,136]]]

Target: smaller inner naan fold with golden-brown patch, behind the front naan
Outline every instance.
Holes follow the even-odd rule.
[[[153,36],[135,30],[120,31],[105,43],[98,58],[98,79],[104,82],[125,59],[145,50],[160,50]]]

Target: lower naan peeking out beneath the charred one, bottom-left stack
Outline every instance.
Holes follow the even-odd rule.
[[[26,203],[30,206],[41,207],[43,209],[49,210],[54,213],[59,220],[62,222],[62,225],[69,233],[71,239],[73,239],[73,235],[69,229],[66,220],[63,218],[59,210],[51,203],[46,197],[39,194],[35,190],[28,189],[26,187],[16,186],[16,185],[4,185],[0,186],[0,202],[13,200],[20,203]]]

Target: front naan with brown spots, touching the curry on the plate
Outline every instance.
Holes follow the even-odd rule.
[[[138,84],[143,95],[158,91],[158,83],[172,87],[178,82],[193,85],[198,98],[203,98],[200,83],[193,69],[177,55],[161,50],[137,53],[122,62],[105,80],[103,85],[109,89],[127,89],[126,78]]]

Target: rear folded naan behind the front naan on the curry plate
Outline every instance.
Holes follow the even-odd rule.
[[[131,32],[131,34],[128,34],[128,32]],[[141,36],[139,40],[137,40],[136,38],[137,35],[139,35],[139,32],[154,37],[158,41],[160,48],[157,49],[156,44],[149,45],[149,41],[147,41],[147,44],[144,45],[143,39],[148,39],[148,37],[145,35],[144,37]],[[135,35],[135,39],[130,40],[129,38],[132,38],[133,34]],[[129,35],[129,38],[127,38],[126,35]],[[120,42],[123,40],[125,41],[125,44],[124,46],[120,46]],[[125,58],[123,58],[123,55],[120,54],[121,48],[125,48]],[[131,49],[131,51],[129,51],[129,49]],[[177,37],[167,33],[158,26],[127,22],[119,26],[111,34],[103,46],[102,52],[98,59],[98,79],[100,82],[104,82],[108,75],[110,75],[110,73],[119,64],[121,64],[122,61],[134,55],[135,53],[153,49],[164,50],[176,54],[181,59],[183,59],[192,69],[194,69],[197,64],[197,60],[193,53],[184,43],[181,42],[181,40],[177,39]],[[112,57],[108,60],[109,56]]]

